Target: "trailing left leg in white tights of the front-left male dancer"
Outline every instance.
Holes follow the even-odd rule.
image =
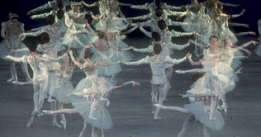
[[[39,92],[40,92],[40,83],[39,82],[34,82],[34,111],[31,114],[30,120],[28,121],[28,123],[26,124],[26,127],[30,127],[31,124],[34,121],[34,116],[37,114],[38,112],[38,100],[39,100]]]

